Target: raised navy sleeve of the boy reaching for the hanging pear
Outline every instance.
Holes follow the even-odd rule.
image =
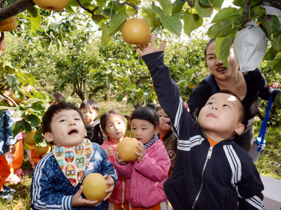
[[[188,151],[193,145],[201,143],[190,138],[190,131],[197,128],[198,124],[184,107],[184,101],[175,81],[172,80],[169,67],[164,64],[164,51],[154,52],[142,56],[151,73],[156,95],[162,109],[169,115],[172,122],[174,135],[178,138],[178,149]],[[198,140],[198,139],[197,139]]]

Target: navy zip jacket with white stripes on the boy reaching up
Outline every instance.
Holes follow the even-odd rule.
[[[172,177],[164,183],[174,210],[264,210],[263,183],[248,153],[233,137],[210,146],[204,131],[185,110],[164,52],[142,56],[158,101],[178,138]]]

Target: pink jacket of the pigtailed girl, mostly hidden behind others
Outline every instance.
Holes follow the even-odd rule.
[[[101,145],[101,147],[105,150],[108,146],[113,145],[113,148],[116,148],[116,145],[110,140],[106,139],[105,142]],[[115,156],[114,154],[108,158],[108,161],[114,164]],[[115,168],[115,166],[113,166]],[[109,197],[109,202],[116,204],[124,204],[127,203],[126,194],[125,194],[125,186],[127,178],[121,177],[118,175],[117,185],[114,188],[111,196]]]

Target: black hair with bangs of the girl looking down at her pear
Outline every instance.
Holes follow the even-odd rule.
[[[150,107],[140,107],[136,109],[131,116],[131,120],[138,119],[138,120],[146,120],[153,124],[154,128],[159,126],[159,115]]]

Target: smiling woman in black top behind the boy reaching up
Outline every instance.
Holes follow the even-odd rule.
[[[221,60],[218,61],[215,44],[215,39],[210,39],[206,44],[204,52],[205,64],[210,69],[211,77],[215,81],[217,91],[223,89],[231,90],[244,103],[246,110],[245,130],[241,135],[234,136],[234,142],[249,152],[254,141],[253,124],[254,116],[257,114],[259,107],[258,97],[268,100],[273,89],[265,81],[265,76],[259,69],[256,69],[255,73],[250,71],[248,74],[241,73],[238,70],[233,48],[230,50],[229,69],[227,69]],[[272,96],[273,101],[280,92],[280,89],[274,91]],[[212,96],[210,85],[206,80],[201,81],[187,101],[189,113],[194,120],[210,96]]]

